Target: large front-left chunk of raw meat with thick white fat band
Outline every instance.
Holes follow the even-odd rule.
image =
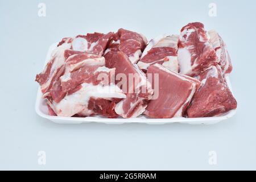
[[[101,114],[117,117],[115,101],[126,96],[114,84],[115,69],[104,65],[104,57],[98,55],[80,53],[69,56],[65,61],[64,75],[59,77],[60,84],[55,90],[57,98],[51,94],[48,105],[58,116]]]

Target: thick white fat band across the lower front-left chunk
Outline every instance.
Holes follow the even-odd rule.
[[[104,98],[126,98],[122,90],[114,84],[110,85],[93,85],[84,83],[82,88],[77,92],[65,96],[59,103],[53,102],[55,113],[62,117],[71,117],[75,114],[90,113],[87,109],[90,97]]]

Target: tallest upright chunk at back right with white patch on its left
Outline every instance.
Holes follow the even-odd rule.
[[[178,44],[180,73],[197,76],[220,61],[202,23],[189,23],[181,29]]]

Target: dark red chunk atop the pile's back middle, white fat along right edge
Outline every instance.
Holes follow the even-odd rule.
[[[112,54],[113,52],[122,51],[128,57],[131,63],[137,63],[144,48],[147,44],[147,39],[137,32],[120,28],[113,38],[113,42],[105,51]]]

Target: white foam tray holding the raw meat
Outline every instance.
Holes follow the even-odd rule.
[[[52,44],[52,46],[49,47],[48,53],[46,56],[46,62],[47,64],[48,60],[51,57],[51,52],[53,49],[57,46],[57,43]],[[228,86],[230,90],[232,90],[229,77],[227,78]],[[89,123],[89,122],[98,122],[98,123],[107,123],[107,124],[122,124],[122,123],[147,123],[151,125],[162,125],[166,123],[187,123],[191,125],[199,125],[199,124],[215,124],[222,120],[228,119],[233,117],[234,114],[236,114],[236,110],[230,110],[228,113],[225,113],[218,117],[207,117],[207,118],[169,118],[169,119],[152,119],[147,118],[145,116],[140,116],[137,118],[105,118],[101,116],[93,116],[93,117],[58,117],[58,116],[52,116],[48,115],[48,108],[46,105],[46,101],[42,99],[42,92],[40,90],[40,87],[38,88],[38,94],[36,97],[36,105],[35,105],[36,113],[42,117],[49,119],[55,123],[59,124],[79,124],[79,123]]]

